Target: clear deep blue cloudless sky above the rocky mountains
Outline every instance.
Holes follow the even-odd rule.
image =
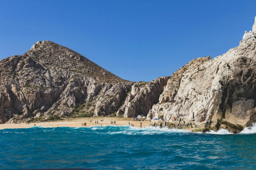
[[[170,76],[239,45],[256,1],[0,1],[0,59],[53,41],[131,81]]]

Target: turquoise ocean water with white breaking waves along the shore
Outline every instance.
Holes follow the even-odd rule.
[[[256,169],[256,126],[225,130],[95,126],[0,130],[0,169]]]

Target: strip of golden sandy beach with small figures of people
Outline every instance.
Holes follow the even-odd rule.
[[[92,122],[90,122],[92,120]],[[98,121],[98,124],[95,124]],[[104,120],[104,121],[100,121]],[[11,123],[11,124],[0,124],[0,129],[13,129],[13,128],[30,128],[33,127],[34,124],[36,126],[44,126],[44,127],[82,127],[82,123],[86,122],[86,127],[92,127],[97,125],[111,125],[111,121],[116,121],[115,125],[123,126],[134,124],[135,127],[140,127],[140,122],[142,122],[142,127],[149,126],[151,123],[149,120],[145,121],[133,121],[131,118],[117,118],[117,117],[91,117],[91,118],[70,118],[66,120],[58,120],[58,121],[47,121],[47,122],[32,122],[32,123]],[[83,126],[84,127],[84,126]]]

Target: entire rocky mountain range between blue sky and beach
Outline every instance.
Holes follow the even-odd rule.
[[[209,129],[239,132],[256,121],[255,45],[254,22],[239,46],[221,56],[194,59],[151,82],[131,82],[73,50],[39,41],[0,61],[0,123],[145,115],[179,128],[206,122]]]

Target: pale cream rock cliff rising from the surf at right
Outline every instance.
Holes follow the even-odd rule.
[[[238,47],[214,59],[197,58],[176,71],[147,119],[163,116],[166,121],[179,117],[185,121],[211,120],[214,130],[239,127],[238,132],[241,126],[250,126],[256,121],[255,47],[254,22]]]

